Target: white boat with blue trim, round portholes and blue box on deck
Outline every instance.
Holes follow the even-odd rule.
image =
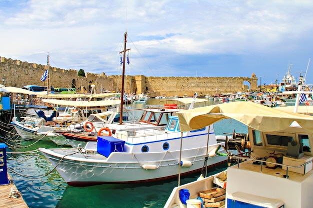
[[[121,138],[100,136],[97,142],[88,142],[83,149],[39,150],[71,186],[143,183],[176,177],[180,164],[180,141],[182,175],[199,172],[208,153],[207,167],[226,161],[226,157],[215,154],[218,145],[223,145],[224,142],[216,142],[212,127],[209,139],[206,127],[198,131],[183,132],[181,140],[177,121],[176,117],[171,117],[163,131],[133,131],[133,136],[120,135]],[[116,135],[112,133],[112,136]],[[113,146],[103,149],[108,143]]]

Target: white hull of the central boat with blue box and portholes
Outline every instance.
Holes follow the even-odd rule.
[[[210,147],[210,149],[216,148]],[[191,167],[181,167],[181,175],[199,172],[203,168],[205,147],[182,151],[184,161]],[[77,149],[44,149],[43,155],[70,186],[96,184],[144,183],[174,178],[178,175],[179,151],[157,153],[111,153],[108,158],[100,154],[83,157]],[[69,156],[64,157],[64,155]],[[78,156],[77,156],[78,155]],[[61,159],[64,157],[63,159]],[[226,162],[227,157],[213,156],[207,167]],[[61,162],[60,162],[61,161]]]

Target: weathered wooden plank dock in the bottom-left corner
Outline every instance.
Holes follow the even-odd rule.
[[[24,202],[22,196],[20,195],[18,198],[9,198],[9,194],[11,192],[11,188],[15,191],[17,190],[11,177],[7,175],[10,180],[10,184],[0,186],[0,205],[1,208],[28,208],[26,203]]]

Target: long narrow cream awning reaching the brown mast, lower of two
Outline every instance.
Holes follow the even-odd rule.
[[[44,103],[51,103],[53,105],[76,106],[76,107],[111,106],[120,104],[120,100],[70,101],[58,99],[42,99],[41,101]]]

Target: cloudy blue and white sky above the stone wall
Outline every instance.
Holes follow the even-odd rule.
[[[312,19],[311,0],[0,0],[0,56],[120,75],[127,31],[126,75],[270,84],[292,64],[313,84]]]

